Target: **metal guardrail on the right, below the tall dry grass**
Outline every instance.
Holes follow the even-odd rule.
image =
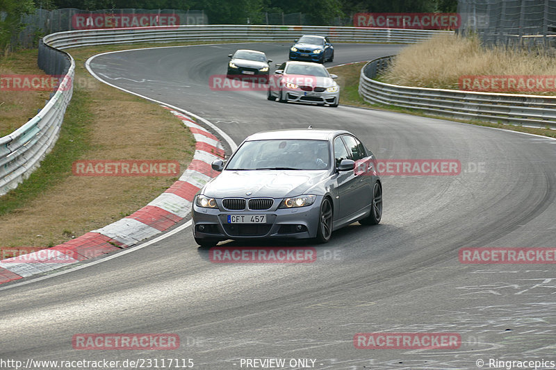
[[[371,60],[361,69],[359,94],[365,101],[456,119],[556,128],[556,96],[429,89],[374,80],[391,58]]]

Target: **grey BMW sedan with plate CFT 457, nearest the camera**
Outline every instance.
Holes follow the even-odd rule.
[[[222,174],[193,201],[193,236],[201,246],[224,239],[315,238],[382,218],[375,157],[354,135],[333,130],[280,130],[247,137]]]

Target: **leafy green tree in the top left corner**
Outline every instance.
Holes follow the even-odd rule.
[[[22,30],[22,15],[35,10],[33,0],[0,0],[0,50],[6,53],[12,37]]]

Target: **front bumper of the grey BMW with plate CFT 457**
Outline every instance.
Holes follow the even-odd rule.
[[[270,210],[223,210],[202,208],[193,204],[193,235],[197,239],[259,239],[316,237],[322,196],[306,207],[278,209],[281,199],[276,199]],[[228,224],[228,215],[266,215],[266,224]]]

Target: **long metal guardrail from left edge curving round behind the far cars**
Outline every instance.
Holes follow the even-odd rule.
[[[53,75],[66,75],[54,96],[24,126],[0,138],[0,196],[17,187],[38,167],[58,138],[67,104],[72,98],[75,62],[60,49],[137,42],[192,42],[220,40],[293,41],[303,34],[328,35],[333,42],[385,42],[409,44],[450,31],[401,30],[324,26],[157,26],[67,31],[47,35],[40,42],[39,67]],[[44,41],[44,43],[43,43]]]

